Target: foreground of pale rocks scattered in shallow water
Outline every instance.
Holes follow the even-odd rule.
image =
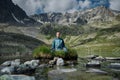
[[[89,55],[79,58],[78,64],[65,66],[62,58],[48,63],[39,60],[5,61],[0,65],[0,79],[4,80],[119,80],[120,58]],[[91,76],[91,78],[90,78]]]

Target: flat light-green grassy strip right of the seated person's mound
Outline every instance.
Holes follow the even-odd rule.
[[[120,47],[116,45],[100,45],[100,46],[82,46],[77,48],[79,57],[87,55],[100,55],[103,57],[120,57]]]

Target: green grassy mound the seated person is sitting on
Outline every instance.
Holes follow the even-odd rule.
[[[68,49],[67,52],[64,52],[63,50],[52,52],[51,49],[47,46],[39,46],[33,51],[33,57],[47,59],[61,57],[67,60],[76,60],[78,55],[77,51],[74,49]]]

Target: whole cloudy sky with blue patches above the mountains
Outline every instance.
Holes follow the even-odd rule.
[[[47,12],[74,12],[97,6],[120,11],[120,0],[12,0],[28,15]]]

